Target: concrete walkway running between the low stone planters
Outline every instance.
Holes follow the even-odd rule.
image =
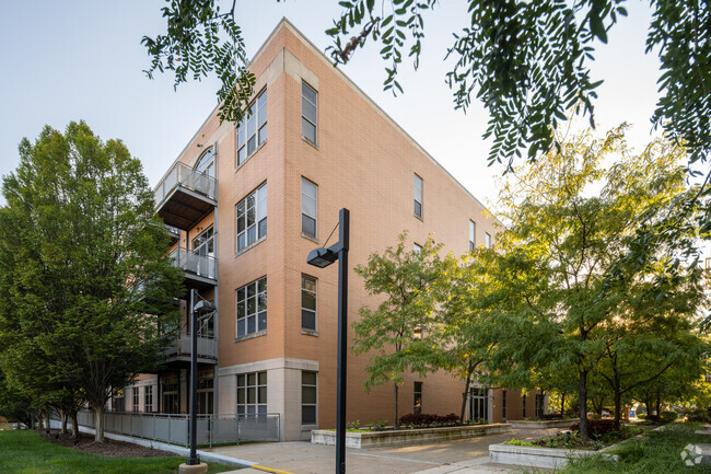
[[[492,435],[433,444],[399,448],[348,449],[348,474],[485,474],[520,471],[520,466],[504,466],[489,462],[489,444],[511,438],[531,439],[552,435],[560,429],[515,429],[509,435]],[[250,460],[259,467],[293,474],[330,474],[336,471],[336,451],[333,446],[310,442],[257,443],[223,447],[203,451],[231,458]],[[273,472],[272,471],[272,472]],[[254,467],[240,474],[264,472]],[[237,472],[235,471],[235,474]]]

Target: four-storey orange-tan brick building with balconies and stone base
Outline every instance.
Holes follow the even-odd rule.
[[[172,255],[186,286],[218,307],[198,330],[199,413],[278,413],[281,439],[306,439],[336,425],[337,265],[318,269],[306,255],[324,246],[338,210],[351,212],[351,322],[359,308],[376,303],[352,267],[395,245],[404,230],[412,245],[433,234],[462,254],[491,244],[494,226],[287,20],[250,70],[253,114],[235,127],[220,124],[215,109],[156,186],[155,201],[174,228]],[[182,336],[161,373],[117,391],[114,408],[187,413],[187,308],[183,302]],[[370,394],[362,388],[368,361],[349,356],[347,419],[392,424],[392,385]],[[458,413],[463,390],[444,372],[409,375],[400,414]],[[518,419],[541,403],[533,393],[522,400],[516,390],[475,386],[468,413]]]

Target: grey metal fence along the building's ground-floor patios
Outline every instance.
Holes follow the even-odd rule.
[[[104,428],[107,432],[145,438],[154,441],[182,444],[189,443],[189,415],[163,413],[106,413]],[[94,412],[82,411],[77,417],[79,425],[94,428]],[[279,441],[280,419],[278,413],[261,415],[198,415],[197,443],[213,444],[240,441]]]

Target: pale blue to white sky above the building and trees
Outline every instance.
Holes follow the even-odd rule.
[[[217,0],[229,9],[229,0]],[[652,139],[650,117],[658,96],[660,61],[644,54],[650,24],[648,2],[628,2],[629,16],[597,43],[593,80],[604,79],[595,103],[598,130],[632,125],[628,142],[641,148]],[[165,32],[163,0],[0,0],[0,175],[11,173],[23,137],[34,140],[45,125],[62,130],[84,119],[107,140],[120,138],[139,158],[151,186],[177,158],[217,105],[214,79],[173,88],[171,74],[149,80],[143,35]],[[236,22],[254,55],[282,18],[324,50],[340,7],[335,0],[236,0]],[[444,82],[452,33],[465,26],[466,2],[441,2],[426,18],[420,68],[405,63],[405,93],[383,91],[385,65],[377,48],[359,49],[341,70],[479,200],[498,196],[503,165],[487,166],[490,142],[481,139],[488,115],[474,102],[454,111]],[[0,205],[4,199],[0,197]]]

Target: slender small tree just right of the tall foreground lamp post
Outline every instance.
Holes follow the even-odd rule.
[[[401,234],[397,247],[387,247],[383,255],[372,254],[368,264],[356,267],[364,279],[365,290],[383,301],[375,310],[360,309],[360,321],[353,323],[352,350],[371,354],[369,375],[363,382],[366,390],[393,382],[396,427],[403,374],[412,371],[423,375],[436,367],[426,338],[434,320],[429,287],[438,277],[441,245],[428,239],[421,250],[407,251],[406,239],[407,234]]]

